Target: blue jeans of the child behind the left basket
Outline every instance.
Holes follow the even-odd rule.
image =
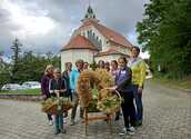
[[[54,128],[54,133],[58,133],[61,130],[63,130],[63,113],[62,112],[56,115],[53,128]]]

